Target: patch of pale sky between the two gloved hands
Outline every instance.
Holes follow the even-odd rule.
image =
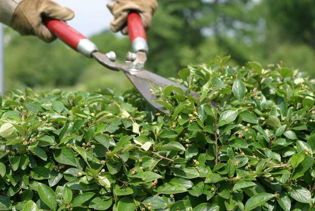
[[[112,14],[107,9],[110,0],[54,0],[75,12],[68,24],[85,36],[91,36],[109,28]]]

